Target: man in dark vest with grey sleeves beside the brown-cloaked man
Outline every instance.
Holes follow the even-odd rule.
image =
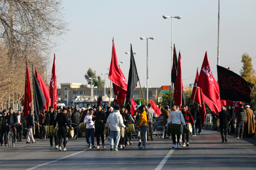
[[[236,111],[236,137],[235,138],[239,138],[239,134],[240,134],[240,138],[242,139],[242,135],[244,132],[244,122],[245,122],[245,117],[246,117],[246,110],[244,108],[242,108],[242,104],[239,104],[239,109],[238,111]],[[240,131],[241,128],[241,131]]]

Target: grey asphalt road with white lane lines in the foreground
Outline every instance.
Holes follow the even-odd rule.
[[[154,138],[147,149],[139,149],[133,139],[133,145],[118,151],[110,151],[109,141],[106,148],[88,149],[85,138],[69,139],[66,151],[49,150],[49,139],[35,144],[23,140],[15,148],[0,147],[0,169],[255,170],[256,140],[233,136],[222,143],[219,131],[205,129],[190,139],[189,147],[171,149],[171,139]]]

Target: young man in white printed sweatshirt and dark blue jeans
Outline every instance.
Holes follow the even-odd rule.
[[[86,123],[86,133],[87,133],[87,138],[88,138],[88,148],[95,148],[96,146],[94,145],[94,121],[92,121],[92,118],[94,115],[93,109],[89,109],[89,115],[85,116],[84,123]]]

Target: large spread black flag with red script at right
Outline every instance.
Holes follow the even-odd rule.
[[[233,102],[251,103],[254,84],[247,83],[240,75],[217,65],[220,99]]]

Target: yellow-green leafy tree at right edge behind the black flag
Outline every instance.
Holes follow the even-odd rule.
[[[243,63],[242,69],[240,71],[241,77],[244,78],[247,82],[255,84],[256,74],[251,63],[252,58],[245,52],[242,55],[241,62]]]

